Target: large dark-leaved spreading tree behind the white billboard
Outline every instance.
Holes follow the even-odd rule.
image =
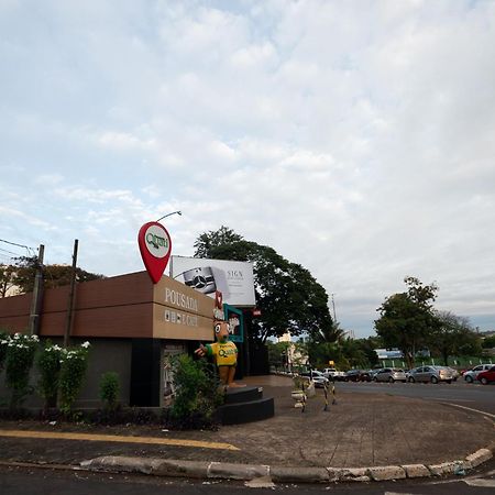
[[[273,248],[244,240],[221,227],[202,233],[195,242],[195,256],[253,263],[256,306],[262,316],[252,320],[251,337],[266,342],[268,337],[302,332],[329,332],[332,319],[328,295],[308,270],[290,263]]]

